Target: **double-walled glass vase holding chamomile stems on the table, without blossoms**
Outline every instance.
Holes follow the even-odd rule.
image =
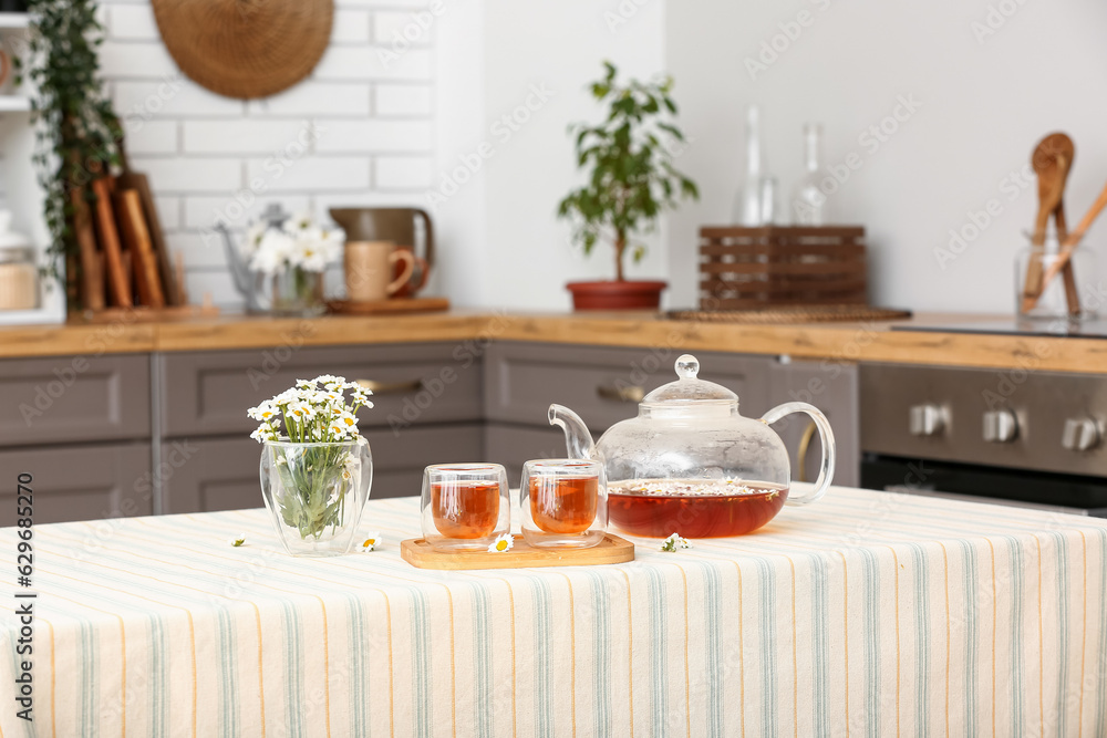
[[[353,545],[373,482],[364,439],[341,444],[266,441],[261,496],[284,550],[335,557]]]

